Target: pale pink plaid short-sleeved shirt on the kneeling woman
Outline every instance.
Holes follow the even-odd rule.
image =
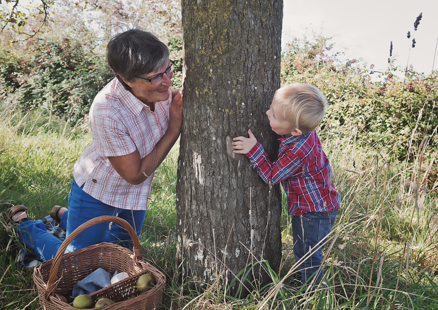
[[[155,112],[114,78],[95,97],[90,108],[92,142],[74,164],[73,176],[84,192],[113,207],[147,210],[154,173],[144,182],[126,182],[108,156],[127,155],[138,150],[140,157],[150,153],[169,125],[172,93],[155,103]]]

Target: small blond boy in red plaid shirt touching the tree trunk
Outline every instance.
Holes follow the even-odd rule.
[[[266,183],[282,183],[289,214],[293,215],[293,254],[297,261],[327,240],[340,203],[340,195],[330,181],[329,159],[315,132],[326,105],[324,95],[315,86],[297,83],[276,91],[266,111],[272,130],[281,136],[278,159],[273,163],[251,130],[249,138],[237,137],[232,143],[233,152],[245,154]],[[318,271],[321,251],[322,247],[298,267],[303,284]],[[319,281],[322,272],[316,277]]]

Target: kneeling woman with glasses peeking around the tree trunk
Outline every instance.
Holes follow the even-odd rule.
[[[114,215],[140,235],[155,169],[180,135],[182,97],[171,89],[174,62],[167,46],[152,33],[131,29],[109,41],[107,61],[116,78],[95,97],[90,108],[92,142],[74,164],[68,210],[50,215],[67,235],[86,221]],[[35,255],[49,260],[61,242],[41,221],[29,221],[24,206],[8,217],[18,222],[18,236]],[[124,228],[96,224],[68,246],[74,251],[100,242],[129,246]]]

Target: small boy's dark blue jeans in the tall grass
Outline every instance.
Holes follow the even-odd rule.
[[[327,240],[326,236],[335,224],[336,214],[338,214],[338,210],[330,213],[306,212],[300,216],[293,215],[293,255],[295,256],[296,261],[300,260],[301,257],[304,257],[309,250],[314,247],[318,248]],[[322,242],[316,246],[321,240]],[[322,261],[321,252],[323,248],[324,247],[321,247],[311,256],[307,257],[307,259],[298,267],[303,284],[310,279],[316,271],[318,271]],[[317,278],[315,283],[318,283],[322,278],[322,275],[323,271],[321,269],[318,274],[315,274]],[[307,281],[307,285],[310,282],[311,280]]]

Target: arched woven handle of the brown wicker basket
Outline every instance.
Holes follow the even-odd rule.
[[[141,257],[140,242],[138,241],[137,233],[134,231],[134,228],[132,228],[131,224],[129,224],[123,218],[116,216],[104,215],[104,216],[95,217],[89,221],[86,221],[84,224],[76,228],[70,235],[68,235],[68,237],[64,240],[64,242],[62,242],[61,246],[59,247],[55,257],[53,258],[52,266],[50,267],[49,279],[47,280],[47,284],[46,284],[46,292],[44,292],[44,297],[46,298],[46,300],[49,299],[50,295],[54,295],[56,293],[56,289],[57,289],[56,276],[58,273],[62,256],[64,255],[67,246],[73,241],[73,239],[77,235],[79,235],[79,233],[84,231],[86,228],[91,227],[94,224],[99,224],[104,222],[113,222],[120,224],[123,226],[123,228],[127,230],[129,235],[131,236],[132,242],[134,243],[133,246],[134,263],[140,266],[138,260],[143,259]]]

